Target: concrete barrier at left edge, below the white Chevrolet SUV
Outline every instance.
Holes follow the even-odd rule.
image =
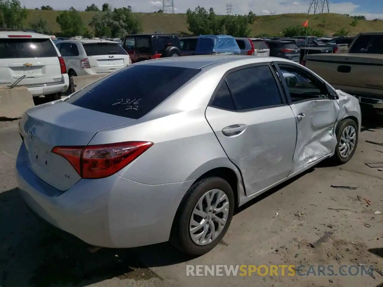
[[[19,119],[27,109],[33,108],[33,97],[26,87],[8,89],[0,86],[0,121]]]

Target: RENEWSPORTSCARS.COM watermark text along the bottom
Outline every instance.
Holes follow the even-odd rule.
[[[366,276],[372,265],[186,265],[186,276]]]

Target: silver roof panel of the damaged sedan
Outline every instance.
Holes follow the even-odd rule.
[[[171,67],[182,67],[201,69],[212,64],[226,64],[229,62],[236,62],[241,60],[248,60],[248,64],[271,62],[272,60],[288,61],[283,58],[258,56],[249,57],[247,55],[195,55],[185,57],[168,57],[162,59],[153,59],[138,62],[133,65],[158,65],[158,66],[171,66]]]

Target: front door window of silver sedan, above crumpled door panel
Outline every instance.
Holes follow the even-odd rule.
[[[290,92],[291,101],[327,98],[328,92],[325,85],[308,73],[283,65],[280,65],[280,70]]]

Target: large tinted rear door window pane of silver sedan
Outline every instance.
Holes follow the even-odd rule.
[[[226,78],[237,110],[282,104],[277,83],[268,66],[246,68]]]

